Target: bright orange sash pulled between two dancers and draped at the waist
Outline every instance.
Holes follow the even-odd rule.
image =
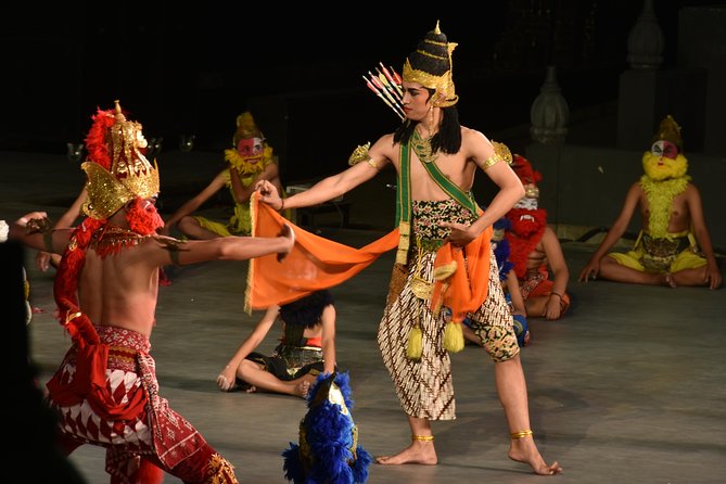
[[[269,205],[260,203],[257,193],[253,193],[250,203],[253,237],[276,237],[283,224],[289,224],[295,232],[295,246],[282,263],[277,260],[276,254],[250,259],[244,305],[247,313],[288,304],[345,282],[381,254],[398,246],[397,228],[362,249],[354,249],[285,220]],[[487,295],[491,240],[492,227],[487,227],[463,249],[448,242],[438,249],[434,276],[440,273],[441,277],[434,285],[433,309],[437,310],[442,304],[448,306],[454,320],[459,322],[468,313],[481,307]]]

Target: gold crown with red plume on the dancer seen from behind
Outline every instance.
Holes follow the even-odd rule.
[[[127,120],[118,101],[114,110],[99,110],[86,138],[88,199],[84,212],[103,220],[129,201],[149,199],[158,193],[158,167],[143,154],[147,140],[139,123]]]

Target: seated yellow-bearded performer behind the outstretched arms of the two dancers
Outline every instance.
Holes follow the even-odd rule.
[[[277,158],[272,148],[255,124],[250,112],[237,117],[233,148],[225,150],[229,166],[215,176],[204,190],[181,205],[165,222],[161,233],[168,235],[173,227],[190,239],[215,239],[228,235],[249,235],[250,195],[258,181],[268,180],[282,193]],[[204,202],[227,187],[234,200],[234,215],[220,222],[192,215]]]

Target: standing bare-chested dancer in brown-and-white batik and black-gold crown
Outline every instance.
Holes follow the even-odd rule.
[[[378,343],[412,442],[395,455],[379,457],[378,463],[438,462],[431,421],[456,418],[447,349],[463,347],[460,322],[469,317],[495,361],[511,437],[509,457],[538,474],[556,474],[562,469],[545,462],[530,430],[520,348],[489,245],[492,225],[524,189],[509,165],[500,163],[504,156],[493,143],[459,124],[451,74],[455,47],[438,25],[419,42],[403,69],[406,119],[367,152],[356,150],[352,162],[358,163],[284,201],[271,183],[257,187],[260,200],[273,208],[300,208],[340,196],[386,166],[398,173],[400,242]],[[471,193],[477,168],[499,187],[485,212]],[[450,282],[450,290],[442,281]],[[440,303],[451,310],[441,310]],[[451,314],[458,331],[449,333],[444,314]]]

